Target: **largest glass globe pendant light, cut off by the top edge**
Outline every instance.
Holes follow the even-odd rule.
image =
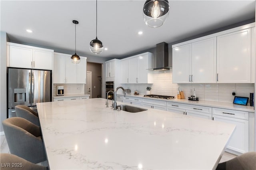
[[[168,0],[147,0],[143,6],[146,25],[152,28],[162,26],[168,18],[169,8]]]

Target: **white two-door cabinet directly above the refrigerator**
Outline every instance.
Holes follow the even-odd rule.
[[[8,67],[52,70],[52,49],[7,43]]]

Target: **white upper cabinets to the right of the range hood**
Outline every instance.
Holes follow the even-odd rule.
[[[172,82],[254,83],[254,26],[251,23],[172,45]]]

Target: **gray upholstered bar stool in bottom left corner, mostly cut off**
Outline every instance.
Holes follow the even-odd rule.
[[[1,170],[48,170],[48,167],[33,164],[14,154],[1,153]]]

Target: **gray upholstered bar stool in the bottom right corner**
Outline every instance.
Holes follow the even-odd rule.
[[[247,152],[219,163],[216,170],[256,170],[256,152]]]

